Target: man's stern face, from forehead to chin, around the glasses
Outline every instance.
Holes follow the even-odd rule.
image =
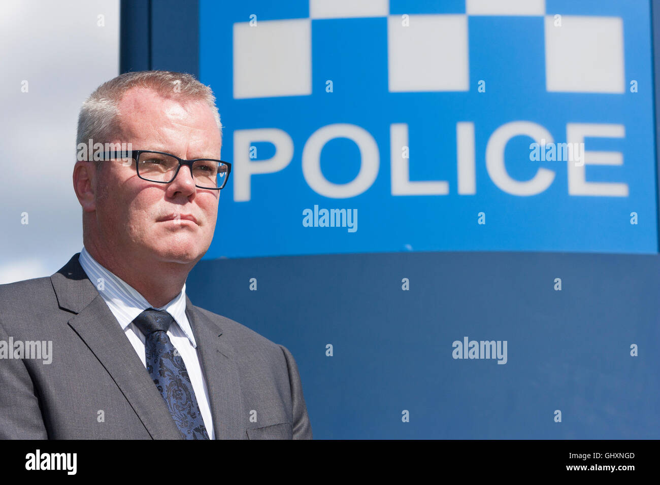
[[[121,130],[112,143],[185,160],[220,158],[220,131],[203,102],[132,88],[119,102],[119,112]],[[197,263],[213,239],[220,191],[195,187],[185,166],[166,184],[139,178],[135,161],[130,166],[101,163],[106,166],[97,178],[96,219],[112,257]]]

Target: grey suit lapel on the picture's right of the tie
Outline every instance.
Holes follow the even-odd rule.
[[[234,349],[222,337],[222,329],[193,306],[185,296],[185,314],[197,342],[204,378],[209,390],[216,439],[246,438],[247,416],[236,368]]]

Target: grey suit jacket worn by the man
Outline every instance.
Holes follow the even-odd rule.
[[[79,254],[49,278],[0,285],[0,340],[51,340],[53,354],[0,359],[0,438],[181,439]],[[216,439],[311,439],[290,352],[186,304]]]

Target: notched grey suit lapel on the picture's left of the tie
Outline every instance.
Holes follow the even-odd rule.
[[[51,276],[57,302],[77,313],[69,326],[94,353],[154,439],[182,439],[172,415],[135,349],[78,261]]]

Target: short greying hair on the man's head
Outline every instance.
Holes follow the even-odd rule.
[[[108,143],[119,128],[119,101],[127,90],[135,87],[150,88],[162,96],[180,96],[184,100],[205,102],[213,110],[222,139],[220,113],[209,86],[186,73],[139,71],[124,73],[104,82],[82,103],[78,116],[76,145],[86,144],[89,139],[94,143]]]

